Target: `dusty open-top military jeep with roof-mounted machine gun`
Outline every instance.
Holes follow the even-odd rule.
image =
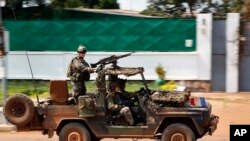
[[[189,91],[150,90],[142,67],[117,65],[117,60],[129,56],[111,56],[97,66],[96,93],[80,96],[78,103],[69,96],[66,80],[50,81],[50,98],[34,102],[25,94],[9,96],[4,104],[6,119],[18,130],[39,130],[60,141],[97,141],[103,138],[151,138],[162,141],[195,141],[216,130],[219,117],[212,114],[212,105]],[[133,112],[136,121],[130,126],[123,116],[107,109],[106,76],[140,75],[142,87],[134,92],[130,105],[141,109]],[[72,102],[73,101],[73,102]],[[131,104],[132,103],[132,104]]]

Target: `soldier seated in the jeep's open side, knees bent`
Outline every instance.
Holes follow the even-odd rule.
[[[112,112],[112,115],[124,116],[129,125],[134,125],[134,119],[130,108],[125,105],[124,100],[121,98],[118,91],[120,91],[118,82],[110,82],[108,88],[107,108]]]

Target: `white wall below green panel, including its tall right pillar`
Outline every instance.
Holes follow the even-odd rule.
[[[206,24],[204,24],[204,20]],[[137,52],[119,60],[124,67],[144,67],[145,78],[157,79],[155,67],[161,64],[171,80],[211,79],[211,14],[197,17],[197,51],[195,52]],[[86,60],[95,63],[103,57],[124,53],[88,52]],[[28,52],[35,79],[66,79],[66,70],[75,52]],[[7,78],[31,79],[25,52],[9,52],[7,55]],[[92,79],[95,75],[92,75]],[[139,76],[129,79],[138,79]]]

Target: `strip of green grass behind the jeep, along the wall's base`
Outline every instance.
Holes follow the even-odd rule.
[[[7,95],[13,95],[17,93],[26,94],[31,98],[36,98],[35,86],[37,93],[40,98],[49,97],[49,81],[37,80],[35,81],[35,85],[32,80],[8,80],[7,81]],[[154,81],[147,81],[147,84],[150,89],[159,89]],[[88,92],[95,92],[96,85],[95,81],[87,81],[86,87]],[[142,81],[128,81],[127,82],[127,91],[138,91],[141,87],[143,87]],[[0,86],[0,106],[3,105],[3,93],[2,93],[2,84]],[[68,81],[69,92],[72,91],[72,85],[70,81]]]

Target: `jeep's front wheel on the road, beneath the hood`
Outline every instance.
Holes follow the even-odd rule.
[[[193,131],[184,124],[175,123],[166,127],[163,131],[162,141],[196,141]]]

